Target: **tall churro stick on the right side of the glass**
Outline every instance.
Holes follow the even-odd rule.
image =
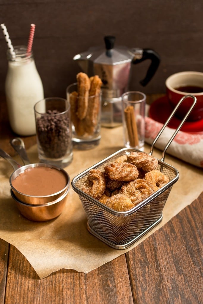
[[[89,90],[89,101],[88,101],[87,114],[85,117],[85,125],[86,125],[86,132],[91,134],[94,132],[94,127],[97,125],[97,119],[100,110],[99,94],[100,94],[102,81],[97,75],[91,77],[90,81],[91,81],[91,85]]]

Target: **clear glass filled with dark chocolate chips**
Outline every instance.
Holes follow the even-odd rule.
[[[40,162],[64,168],[72,162],[70,103],[59,97],[44,98],[34,106]]]

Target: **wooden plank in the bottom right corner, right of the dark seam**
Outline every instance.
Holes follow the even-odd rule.
[[[202,213],[199,197],[126,254],[136,303],[202,303]]]

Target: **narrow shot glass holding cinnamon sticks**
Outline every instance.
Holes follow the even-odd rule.
[[[124,146],[144,149],[146,95],[131,91],[122,95]]]

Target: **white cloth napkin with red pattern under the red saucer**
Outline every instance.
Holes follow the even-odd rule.
[[[146,116],[145,142],[151,144],[162,126],[162,123]],[[155,147],[163,150],[174,132],[175,129],[166,127],[157,140]],[[167,153],[189,164],[203,168],[203,128],[202,132],[196,133],[179,131],[167,149]]]

